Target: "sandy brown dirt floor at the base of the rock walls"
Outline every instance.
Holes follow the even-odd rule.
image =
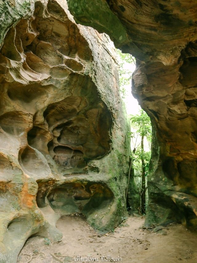
[[[144,217],[131,216],[114,232],[101,235],[82,216],[63,216],[57,222],[62,241],[31,237],[18,263],[93,262],[93,258],[96,262],[197,262],[196,233],[175,224],[153,232],[143,228],[143,223]]]

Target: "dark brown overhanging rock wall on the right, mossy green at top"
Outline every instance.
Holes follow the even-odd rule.
[[[117,47],[137,59],[132,93],[154,130],[146,224],[175,221],[196,226],[197,2],[68,4],[78,23],[106,32]]]

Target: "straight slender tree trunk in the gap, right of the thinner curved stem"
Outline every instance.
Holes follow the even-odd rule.
[[[144,136],[142,136],[141,141],[141,162],[142,162],[142,185],[141,185],[141,206],[142,206],[142,214],[146,213],[146,183],[145,183],[145,163],[143,158],[143,152],[144,152]]]

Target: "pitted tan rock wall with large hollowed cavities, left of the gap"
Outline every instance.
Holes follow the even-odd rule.
[[[119,224],[130,142],[109,37],[76,25],[66,1],[0,11],[0,262],[14,263],[32,235],[61,240],[62,215]]]

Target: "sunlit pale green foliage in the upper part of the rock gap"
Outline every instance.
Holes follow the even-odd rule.
[[[119,49],[116,49],[117,57],[119,61],[119,82],[120,93],[124,98],[126,89],[125,86],[131,84],[133,71],[131,70],[133,64],[135,64],[135,58],[130,54],[124,54]]]

